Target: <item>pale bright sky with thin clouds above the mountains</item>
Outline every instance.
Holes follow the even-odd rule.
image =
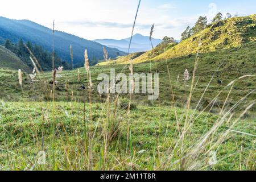
[[[0,16],[28,19],[43,26],[85,38],[124,39],[131,28],[139,0],[8,0],[1,2]],[[154,38],[180,39],[187,26],[197,18],[212,20],[221,12],[239,16],[256,14],[255,0],[142,0],[134,34],[149,35],[155,24]]]

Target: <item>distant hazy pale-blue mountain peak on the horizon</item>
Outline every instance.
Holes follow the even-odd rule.
[[[113,47],[121,51],[128,52],[130,38],[121,39],[121,40],[97,39],[93,41],[108,47]],[[157,46],[160,42],[162,42],[161,39],[152,38],[152,44],[154,47]],[[131,42],[131,48],[130,48],[131,53],[148,51],[151,48],[152,47],[151,47],[151,43],[148,36],[143,36],[141,34],[135,34],[133,36],[133,40]]]

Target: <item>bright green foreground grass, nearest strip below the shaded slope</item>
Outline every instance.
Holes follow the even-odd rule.
[[[255,140],[251,136],[235,132],[230,132],[224,143],[216,146],[214,151],[217,152],[217,164],[208,164],[207,150],[232,125],[232,121],[225,122],[210,137],[211,141],[195,160],[191,160],[191,156],[191,159],[184,160],[183,166],[180,166],[180,163],[175,164],[181,156],[180,146],[175,148],[175,144],[184,123],[181,119],[180,125],[177,125],[173,107],[137,106],[129,116],[126,111],[119,109],[115,113],[115,119],[120,122],[118,135],[106,145],[106,150],[104,125],[106,118],[109,123],[114,119],[114,108],[109,117],[106,117],[106,108],[93,104],[93,120],[90,120],[89,106],[86,105],[84,122],[83,107],[83,104],[77,102],[57,102],[53,122],[50,102],[2,102],[1,169],[255,169]],[[182,117],[186,111],[176,109],[176,112]],[[196,112],[193,117],[198,115]],[[199,115],[184,140],[184,154],[196,148],[201,137],[214,125],[217,118],[217,115],[209,113]],[[109,126],[109,131],[110,128]],[[233,130],[253,133],[254,128],[255,122],[245,119],[239,121]],[[36,163],[39,151],[46,151],[46,165]]]

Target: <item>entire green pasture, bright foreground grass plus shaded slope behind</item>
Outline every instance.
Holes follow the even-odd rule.
[[[1,69],[0,169],[255,170],[253,47],[201,54],[188,82],[183,72],[192,76],[195,56],[134,64],[134,73],[150,67],[159,73],[160,97],[148,101],[134,94],[130,113],[129,96],[105,102],[108,96],[97,93],[98,74],[110,68],[127,74],[125,64],[90,68],[92,105],[84,68],[58,73],[55,102],[52,73],[37,75],[36,82],[23,74],[21,88],[18,72]],[[38,163],[40,151],[44,165]],[[209,165],[212,154],[217,163]]]

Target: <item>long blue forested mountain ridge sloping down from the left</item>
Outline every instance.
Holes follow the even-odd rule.
[[[18,43],[19,39],[24,42],[30,41],[32,44],[42,46],[48,51],[52,50],[52,30],[31,22],[30,20],[14,20],[0,16],[0,41],[10,39],[13,43]],[[84,49],[88,50],[90,64],[93,60],[103,59],[103,46],[90,40],[79,38],[75,35],[61,31],[55,31],[55,52],[62,60],[70,60],[69,47],[73,48],[73,61],[77,67],[84,64]],[[106,47],[109,57],[125,55],[124,52],[116,48]],[[117,53],[118,52],[118,53]]]

